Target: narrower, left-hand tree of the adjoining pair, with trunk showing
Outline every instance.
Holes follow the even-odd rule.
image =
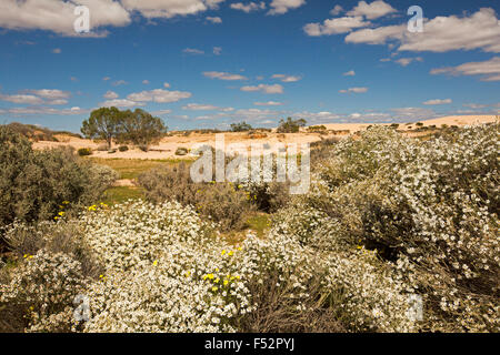
[[[117,108],[93,110],[80,131],[88,139],[106,140],[108,149],[111,149],[112,140],[120,133],[120,116],[121,112]]]

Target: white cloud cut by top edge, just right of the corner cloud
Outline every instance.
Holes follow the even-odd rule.
[[[139,11],[146,18],[173,18],[214,9],[224,0],[122,0],[128,10]]]

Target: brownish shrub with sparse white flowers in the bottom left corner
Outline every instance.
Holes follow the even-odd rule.
[[[40,250],[0,284],[0,329],[3,332],[70,332],[73,300],[88,281],[70,255]]]

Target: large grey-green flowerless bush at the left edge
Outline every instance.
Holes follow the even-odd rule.
[[[71,149],[33,151],[0,128],[0,225],[52,219],[63,201],[94,201],[114,179],[111,169],[81,161]]]

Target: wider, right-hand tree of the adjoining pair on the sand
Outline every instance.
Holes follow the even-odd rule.
[[[163,138],[168,130],[160,118],[156,118],[141,109],[121,112],[119,122],[118,140],[123,143],[131,142],[146,149]]]

